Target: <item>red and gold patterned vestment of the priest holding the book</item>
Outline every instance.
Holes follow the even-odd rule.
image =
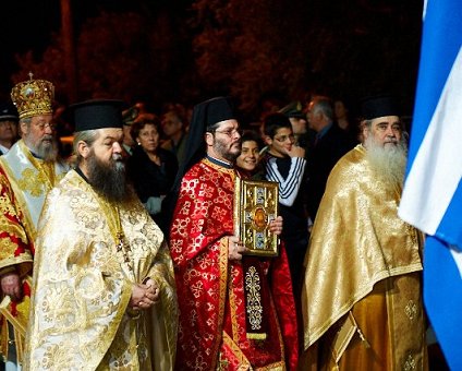
[[[267,337],[246,336],[243,266],[228,260],[235,177],[234,169],[203,159],[182,181],[170,234],[180,304],[177,370],[295,369],[296,315],[283,247],[279,258],[257,260],[269,292]]]

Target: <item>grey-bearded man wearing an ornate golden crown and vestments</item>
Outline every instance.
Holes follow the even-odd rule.
[[[23,357],[38,217],[46,195],[69,169],[58,160],[53,89],[49,81],[32,76],[13,87],[22,139],[0,157],[0,352],[13,369]]]

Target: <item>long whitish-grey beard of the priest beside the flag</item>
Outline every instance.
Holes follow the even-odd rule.
[[[401,188],[408,158],[408,146],[404,139],[397,145],[384,147],[375,142],[373,135],[369,135],[364,144],[367,148],[366,158],[375,175],[385,183],[393,188]]]

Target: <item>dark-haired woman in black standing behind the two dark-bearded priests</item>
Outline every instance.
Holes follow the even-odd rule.
[[[178,161],[171,152],[160,147],[159,129],[157,117],[142,118],[132,124],[131,135],[137,146],[127,159],[127,175],[139,200],[165,230],[161,204],[173,184]]]

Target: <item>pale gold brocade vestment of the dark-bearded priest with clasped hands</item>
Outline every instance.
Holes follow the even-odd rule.
[[[130,264],[117,250],[118,212]],[[25,370],[173,368],[173,266],[162,232],[137,200],[115,207],[70,171],[44,206],[36,251]],[[147,277],[161,300],[134,311],[132,286]]]

